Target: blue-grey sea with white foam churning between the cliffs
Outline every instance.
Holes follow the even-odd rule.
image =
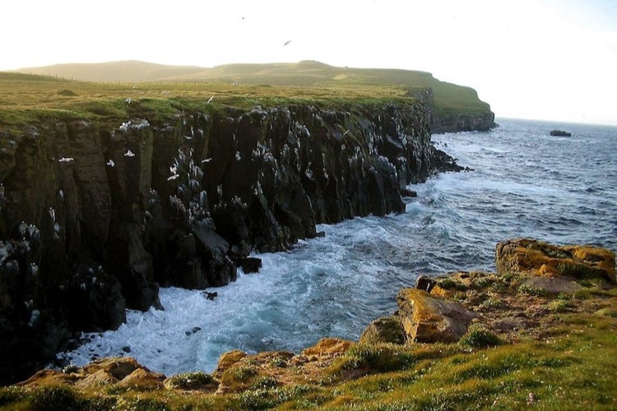
[[[396,309],[422,274],[493,270],[498,241],[535,237],[617,251],[617,127],[498,119],[488,133],[433,135],[472,172],[411,186],[406,211],[320,225],[326,237],[259,255],[210,301],[161,290],[165,311],[129,311],[117,331],[60,354],[76,365],[130,355],[153,371],[211,372],[229,350],[298,352],[324,336],[356,339]],[[551,137],[560,128],[573,137]]]

